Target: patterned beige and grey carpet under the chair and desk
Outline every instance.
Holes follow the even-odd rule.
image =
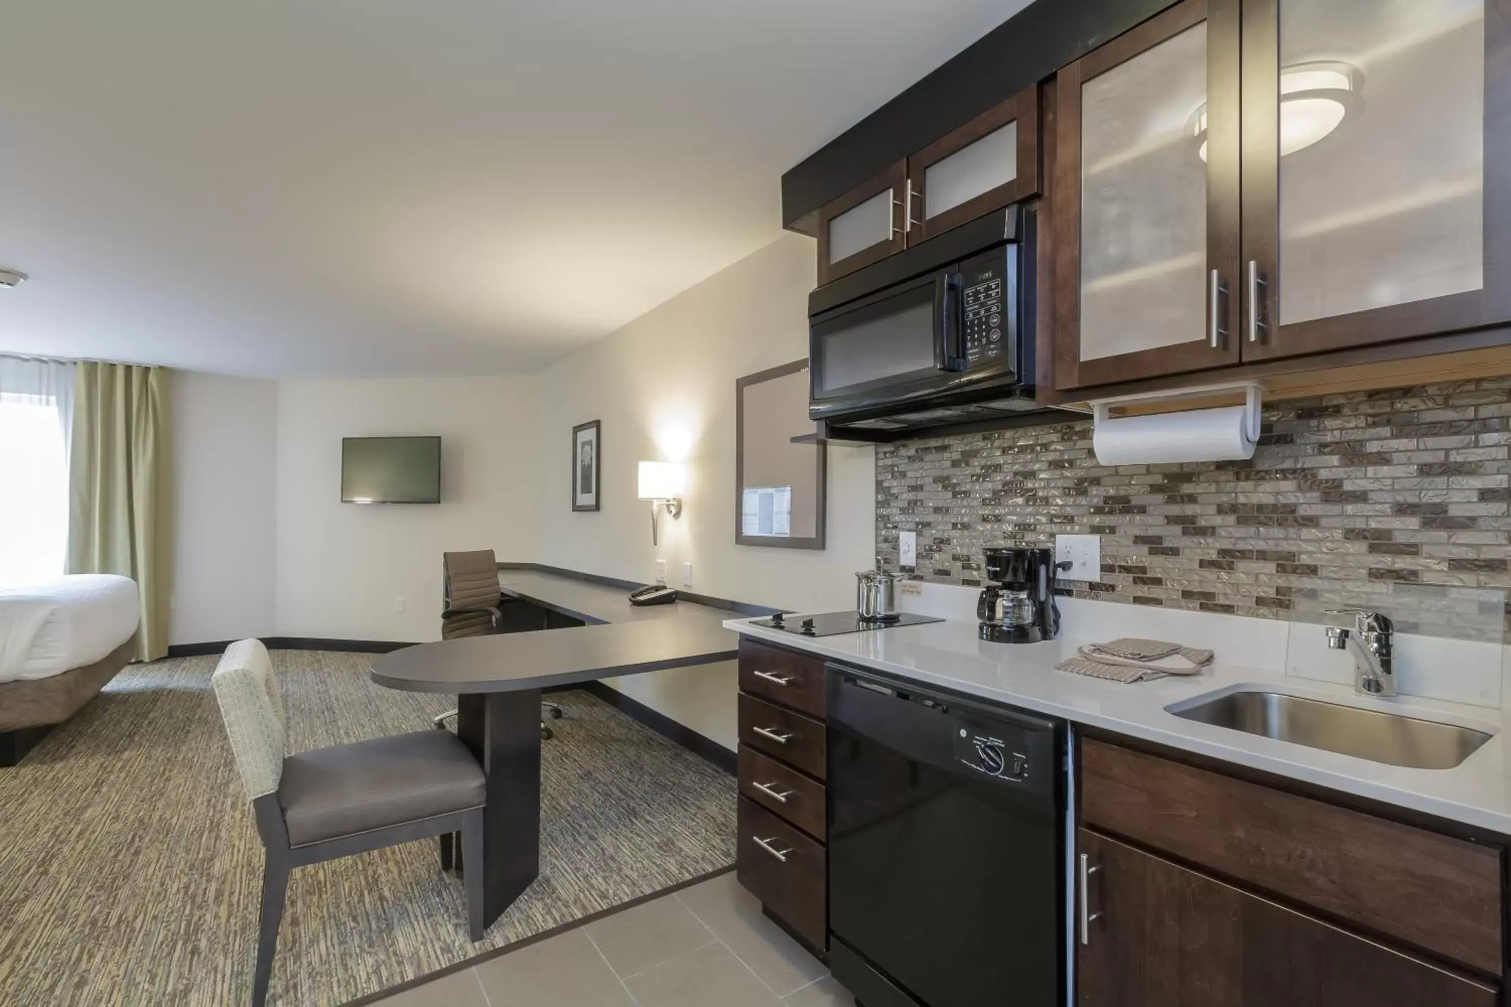
[[[239,1004],[261,842],[210,691],[215,657],[131,666],[0,770],[0,1004]],[[367,657],[277,651],[290,750],[453,707],[369,682]],[[434,842],[299,868],[270,1004],[338,1004],[734,861],[734,779],[588,693],[553,696],[541,877],[467,939]]]

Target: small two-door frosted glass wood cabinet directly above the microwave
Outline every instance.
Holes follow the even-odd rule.
[[[819,285],[1040,189],[1040,88],[1024,88],[819,210]]]

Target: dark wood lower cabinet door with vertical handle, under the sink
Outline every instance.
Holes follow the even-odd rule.
[[[1494,1007],[1494,987],[1080,829],[1082,1007]]]

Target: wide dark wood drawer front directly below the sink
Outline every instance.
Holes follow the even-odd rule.
[[[1089,826],[1500,972],[1499,847],[1089,740],[1080,800]]]

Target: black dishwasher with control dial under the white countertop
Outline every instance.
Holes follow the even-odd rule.
[[[830,965],[866,1007],[1065,996],[1065,725],[828,666]]]

